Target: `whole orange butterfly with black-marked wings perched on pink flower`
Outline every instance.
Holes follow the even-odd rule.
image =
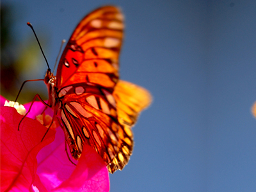
[[[150,104],[147,90],[122,81],[118,57],[124,36],[124,16],[104,6],[79,22],[60,58],[56,76],[45,75],[48,105],[65,133],[70,154],[78,160],[90,145],[108,171],[122,170],[132,154],[135,124]]]

